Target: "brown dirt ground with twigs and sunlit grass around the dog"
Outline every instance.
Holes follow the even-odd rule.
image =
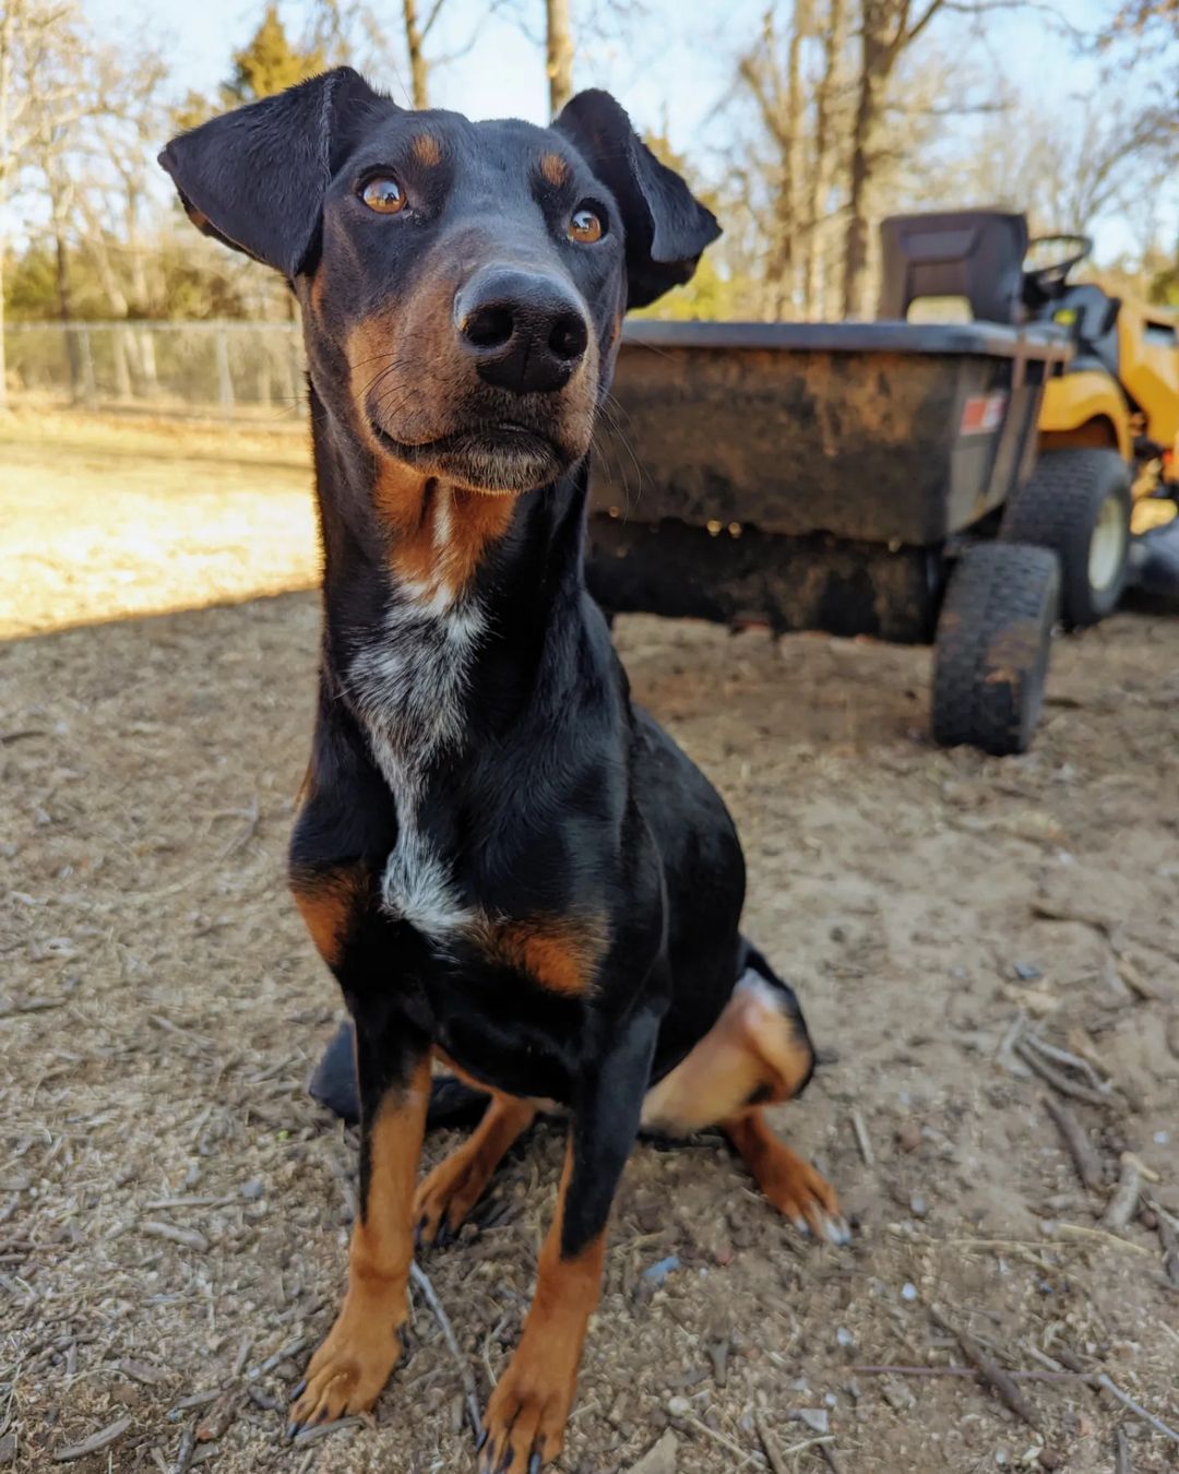
[[[0,447],[0,1468],[106,1434],[62,1467],[461,1474],[420,1299],[374,1417],[283,1439],[354,1203],[354,1144],[304,1092],[335,985],[283,887],[317,600],[253,597],[314,575],[301,451],[106,433]],[[77,628],[16,638],[55,624]],[[738,820],[747,929],[825,1051],[777,1123],[856,1232],[802,1241],[719,1139],[640,1144],[561,1467],[629,1471],[671,1430],[663,1474],[1178,1468],[1147,1414],[1179,1430],[1179,619],[1061,640],[1008,761],[928,744],[926,650],[654,619],[618,643]],[[482,1226],[423,1260],[480,1397],[560,1153],[541,1125]],[[1141,1191],[1105,1231],[1123,1153]],[[1048,1374],[1017,1384],[1036,1427],[967,1372],[920,1375],[967,1365],[934,1309]]]

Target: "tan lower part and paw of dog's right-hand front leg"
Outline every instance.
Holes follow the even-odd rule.
[[[561,1219],[572,1172],[573,1153],[566,1147],[557,1212],[541,1248],[532,1309],[483,1418],[488,1442],[480,1471],[498,1471],[503,1465],[507,1474],[526,1474],[533,1447],[548,1461],[564,1446],[585,1328],[601,1294],[606,1257],[604,1231],[579,1254],[561,1257]],[[505,1456],[510,1462],[503,1464]]]

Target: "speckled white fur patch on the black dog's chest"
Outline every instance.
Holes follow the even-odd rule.
[[[452,603],[445,587],[402,587],[385,616],[385,641],[349,672],[373,758],[396,803],[398,840],[382,880],[391,917],[444,939],[473,920],[449,864],[419,828],[429,765],[461,737],[463,693],[486,621],[479,604]]]

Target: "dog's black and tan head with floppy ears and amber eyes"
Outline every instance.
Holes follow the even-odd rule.
[[[551,128],[470,122],[339,68],[161,164],[196,226],[293,283],[321,399],[374,454],[475,491],[585,454],[625,310],[719,234],[601,91]]]

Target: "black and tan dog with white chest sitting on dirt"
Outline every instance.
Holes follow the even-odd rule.
[[[623,312],[718,227],[597,91],[547,130],[472,124],[340,69],[161,159],[202,230],[290,280],[309,361],[324,634],[290,881],[355,1023],[361,1190],[293,1417],[373,1405],[416,1229],[457,1226],[557,1101],[557,1213],[480,1455],[525,1474],[561,1447],[641,1123],[719,1123],[778,1209],[846,1234],[763,1119],[814,1054],[738,933],[732,822],[631,705],[582,576]],[[491,1103],[419,1185],[433,1055]]]

